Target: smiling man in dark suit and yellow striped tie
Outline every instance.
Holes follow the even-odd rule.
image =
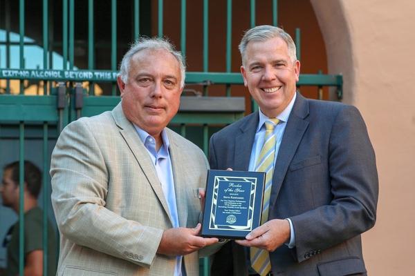
[[[257,170],[270,158],[268,216],[216,253],[212,275],[366,275],[360,234],[376,220],[378,175],[360,112],[296,92],[300,64],[284,30],[252,28],[239,49],[259,112],[215,133],[209,161]]]

